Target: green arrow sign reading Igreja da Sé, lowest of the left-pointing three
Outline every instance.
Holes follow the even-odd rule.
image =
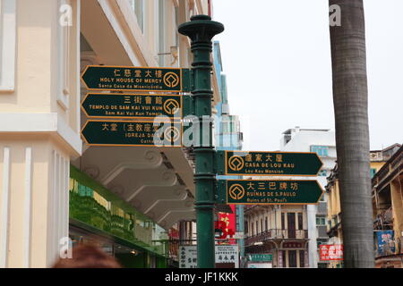
[[[81,134],[90,146],[182,146],[181,122],[90,120]]]

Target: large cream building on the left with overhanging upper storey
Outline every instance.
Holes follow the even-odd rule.
[[[189,68],[177,27],[210,11],[207,0],[0,0],[0,267],[48,267],[81,241],[124,266],[167,265],[169,229],[195,217],[192,154],[83,144],[80,75]]]

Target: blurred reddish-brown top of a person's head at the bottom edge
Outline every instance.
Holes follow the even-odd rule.
[[[72,249],[72,258],[59,258],[53,268],[120,268],[114,257],[107,255],[100,248],[79,244]]]

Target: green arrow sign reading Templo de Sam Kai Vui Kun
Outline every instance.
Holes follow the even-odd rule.
[[[88,117],[182,118],[182,96],[90,93],[81,108]]]

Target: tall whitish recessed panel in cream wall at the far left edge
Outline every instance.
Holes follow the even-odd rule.
[[[0,0],[0,90],[14,90],[15,0]]]

